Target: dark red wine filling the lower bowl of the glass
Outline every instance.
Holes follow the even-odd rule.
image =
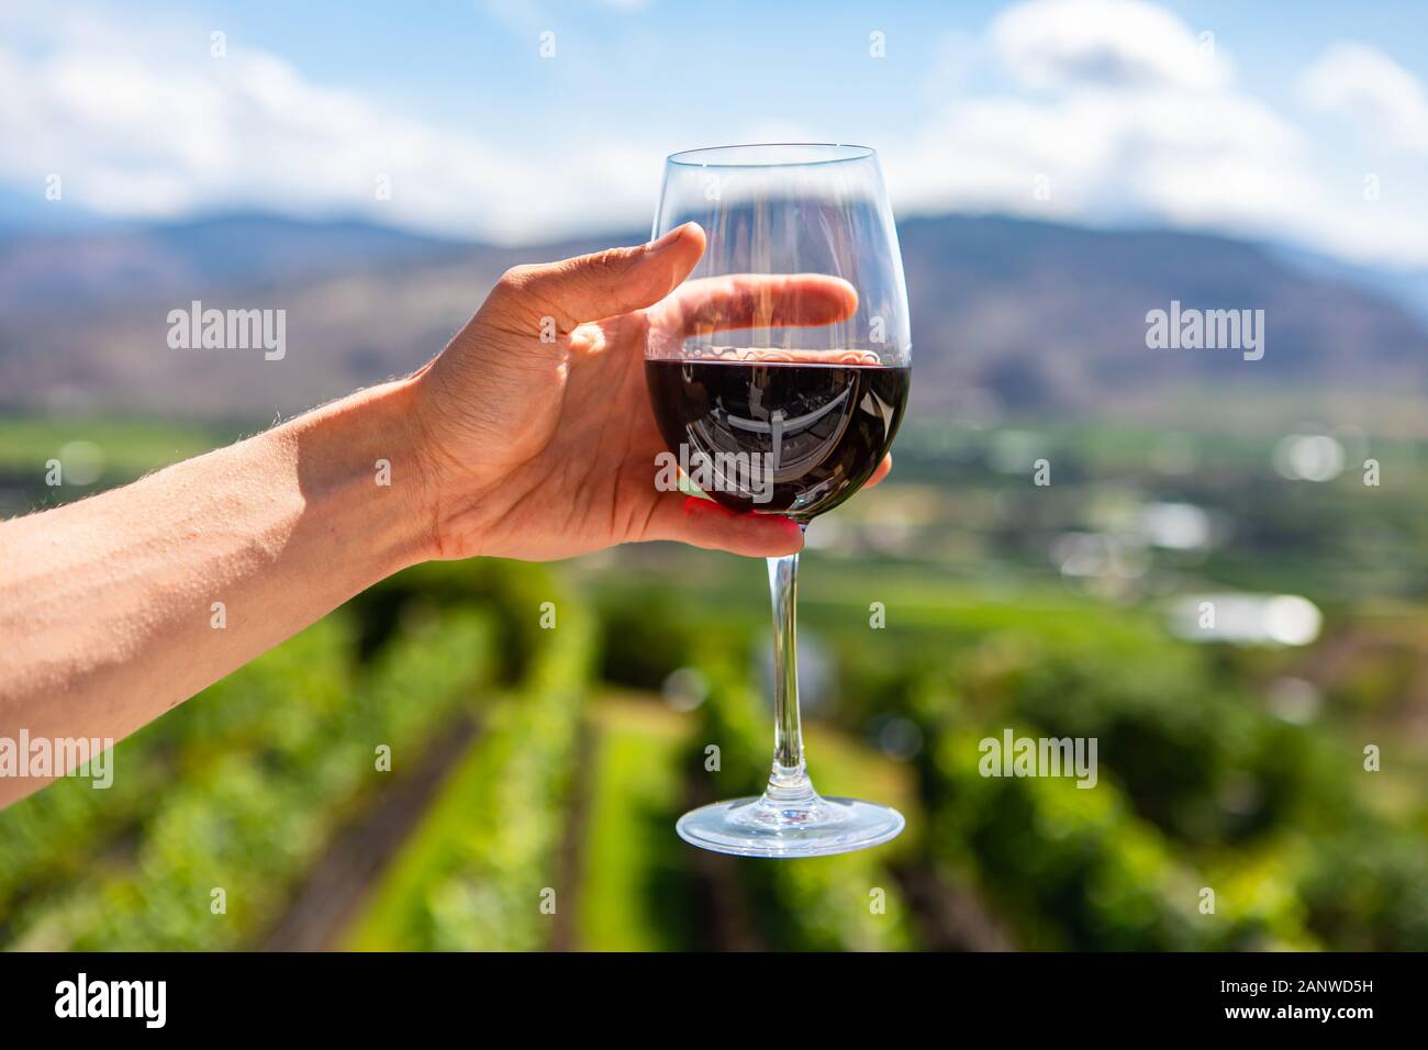
[[[647,360],[654,417],[681,467],[735,510],[807,521],[873,474],[907,409],[911,369]]]

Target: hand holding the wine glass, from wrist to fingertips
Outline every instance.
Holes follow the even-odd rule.
[[[703,251],[704,231],[688,223],[653,244],[501,277],[414,377],[431,557],[550,560],[641,540],[758,557],[803,546],[784,517],[655,489],[665,443],[644,349],[694,331],[831,324],[857,293],[821,274],[681,284]]]

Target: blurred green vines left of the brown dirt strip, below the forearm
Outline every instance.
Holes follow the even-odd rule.
[[[387,773],[377,749],[390,749],[394,763],[416,757],[453,709],[470,703],[490,666],[490,624],[474,611],[411,624],[360,676],[347,664],[346,626],[328,617],[116,744],[116,786],[131,767],[147,784],[119,814],[123,823],[104,793],[81,780],[0,814],[0,870],[23,870],[10,843],[29,844],[17,890],[33,896],[6,916],[6,940],[37,949],[223,949],[271,926],[331,831],[380,790]],[[87,820],[71,823],[67,840],[54,839],[49,810],[73,793],[94,797]],[[69,850],[67,884],[40,844]]]

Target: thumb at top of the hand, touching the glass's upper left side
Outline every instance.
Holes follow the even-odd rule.
[[[506,271],[491,300],[521,326],[554,317],[561,331],[570,331],[583,321],[654,306],[688,277],[701,254],[704,230],[685,223],[650,244],[517,266]]]

